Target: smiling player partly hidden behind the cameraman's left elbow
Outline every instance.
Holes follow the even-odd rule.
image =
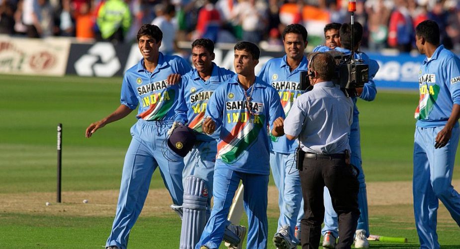
[[[307,35],[307,30],[300,24],[286,26],[282,33],[286,55],[271,59],[259,72],[259,77],[278,91],[286,116],[294,100],[303,93],[300,72],[308,71],[308,60],[304,55]],[[279,193],[279,219],[273,242],[278,249],[291,249],[299,243],[295,235],[300,234],[300,220],[303,218],[302,189],[294,163],[298,142],[288,140],[286,136],[270,137],[270,167]]]

